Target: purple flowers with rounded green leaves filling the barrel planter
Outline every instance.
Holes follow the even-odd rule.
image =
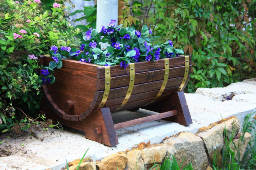
[[[115,22],[116,20],[111,20],[107,27],[102,26],[100,33],[97,30],[87,31],[79,50],[63,46],[57,49],[56,46],[52,46],[50,55],[55,62],[51,61],[47,69],[60,68],[62,58],[105,66],[120,64],[120,67],[126,68],[128,63],[155,61],[184,53],[180,49],[175,49],[170,40],[152,46],[148,38],[152,32],[147,26],[143,26],[140,32],[134,27],[115,26]],[[101,49],[103,43],[109,44],[106,49]]]

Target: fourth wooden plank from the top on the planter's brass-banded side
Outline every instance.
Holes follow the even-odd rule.
[[[166,89],[164,89],[162,95],[172,94],[173,92],[177,91],[178,89],[179,89],[179,86],[166,88]],[[145,93],[138,93],[138,94],[135,94],[135,95],[131,95],[128,102],[133,102],[133,101],[137,101],[137,100],[152,98],[152,97],[155,97],[158,92],[159,92],[159,90],[154,90],[154,91],[149,91],[149,92],[145,92]],[[124,100],[124,97],[125,96],[107,100],[107,102],[105,103],[105,107],[109,107],[109,106],[113,106],[113,105],[121,105],[121,103]],[[97,109],[100,102],[101,101],[96,102],[95,100],[93,100],[90,107],[92,109]]]

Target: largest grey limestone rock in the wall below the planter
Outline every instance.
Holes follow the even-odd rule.
[[[163,142],[167,149],[166,156],[172,158],[174,155],[179,165],[185,157],[181,169],[190,162],[192,162],[194,170],[205,169],[208,165],[203,140],[195,134],[183,132],[178,137],[172,137]]]

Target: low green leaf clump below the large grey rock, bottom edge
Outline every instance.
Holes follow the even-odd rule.
[[[185,159],[185,157],[183,158],[181,165],[179,166],[177,160],[172,155],[172,160],[170,160],[170,158],[167,158],[167,159],[164,158],[164,162],[162,165],[154,163],[154,166],[152,166],[149,170],[151,170],[153,168],[155,168],[157,170],[158,167],[159,167],[159,170],[180,170],[184,159]],[[192,163],[185,166],[183,168],[183,170],[193,170]]]

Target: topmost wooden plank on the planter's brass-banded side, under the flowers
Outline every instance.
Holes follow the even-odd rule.
[[[189,59],[189,63],[191,65],[191,57]],[[180,67],[185,65],[185,57],[176,57],[169,58],[169,67]],[[151,71],[151,70],[159,70],[164,69],[164,59],[154,61],[143,61],[135,63],[135,73]],[[124,69],[120,67],[120,65],[115,65],[110,67],[111,77],[115,77],[118,75],[126,75],[130,72],[130,66]],[[97,68],[97,78],[105,77],[105,69],[103,67]]]

